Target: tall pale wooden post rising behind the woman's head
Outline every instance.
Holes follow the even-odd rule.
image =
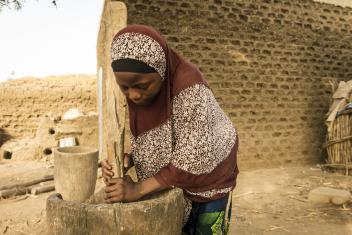
[[[113,152],[119,154],[117,149],[120,142],[121,121],[125,117],[123,108],[124,95],[118,88],[114,73],[111,68],[110,45],[115,34],[127,25],[127,8],[120,1],[104,1],[104,7],[100,19],[100,28],[97,40],[97,69],[102,77],[101,94],[101,122],[100,122],[100,159],[113,157]],[[116,115],[116,109],[119,115]],[[115,147],[115,145],[117,145]],[[108,154],[108,146],[109,154]],[[112,151],[112,148],[115,151]],[[120,160],[118,161],[120,162]],[[120,168],[120,167],[119,167]]]

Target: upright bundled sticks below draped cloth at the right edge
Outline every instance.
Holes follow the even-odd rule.
[[[344,113],[336,117],[325,145],[328,164],[331,168],[344,170],[349,175],[352,170],[352,114]]]

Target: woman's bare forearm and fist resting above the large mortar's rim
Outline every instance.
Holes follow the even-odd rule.
[[[158,192],[170,187],[162,186],[154,178],[148,178],[141,182],[134,182],[130,176],[124,178],[109,179],[105,188],[105,201],[114,202],[133,202],[141,199],[145,195]]]

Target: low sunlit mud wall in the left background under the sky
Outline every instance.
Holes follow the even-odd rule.
[[[95,76],[68,75],[3,82],[0,83],[0,129],[15,138],[34,136],[38,121],[45,113],[61,115],[70,108],[97,111],[96,105]]]

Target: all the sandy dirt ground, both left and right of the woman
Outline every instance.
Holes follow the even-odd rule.
[[[52,172],[46,162],[0,161],[0,186]],[[233,195],[230,234],[352,234],[352,204],[307,201],[308,192],[318,186],[351,191],[352,180],[317,166],[242,171]],[[50,234],[45,203],[51,193],[1,199],[0,234]]]

